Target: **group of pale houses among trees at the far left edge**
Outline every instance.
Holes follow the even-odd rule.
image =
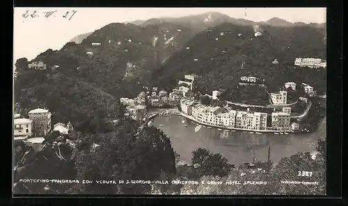
[[[22,118],[20,114],[14,114],[13,135],[15,139],[26,139],[29,137],[45,137],[52,132],[51,112],[46,109],[37,108],[28,112],[29,119]],[[72,130],[72,124],[56,123],[53,130],[68,134]]]

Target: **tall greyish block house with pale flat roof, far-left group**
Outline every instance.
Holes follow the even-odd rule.
[[[34,123],[33,135],[45,136],[51,131],[51,112],[44,109],[35,109],[29,112],[29,119]]]

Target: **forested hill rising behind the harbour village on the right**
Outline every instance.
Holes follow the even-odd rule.
[[[260,26],[262,36],[255,37],[253,26],[221,24],[193,37],[159,70],[152,83],[171,88],[184,74],[202,76],[207,91],[233,89],[240,76],[264,78],[269,89],[278,89],[287,81],[306,82],[324,91],[326,71],[294,69],[295,58],[326,59],[323,33],[313,26]],[[271,62],[277,59],[279,64]],[[244,64],[242,63],[244,62]],[[243,67],[242,67],[243,65]],[[204,92],[204,91],[202,91]]]

